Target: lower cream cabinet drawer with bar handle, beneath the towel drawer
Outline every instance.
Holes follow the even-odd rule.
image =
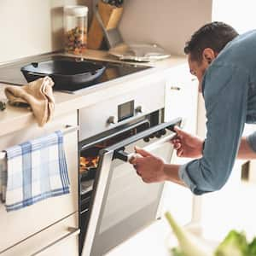
[[[78,212],[10,247],[1,256],[79,255]]]

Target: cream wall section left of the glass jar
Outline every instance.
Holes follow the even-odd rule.
[[[62,48],[62,6],[87,0],[1,0],[0,62]]]

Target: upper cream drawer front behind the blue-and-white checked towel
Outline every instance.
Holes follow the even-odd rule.
[[[52,131],[63,130],[65,125],[77,125],[77,112],[54,119],[49,125],[45,125],[44,128],[39,128],[35,125],[26,130],[0,137],[0,150],[25,142],[28,139],[44,136]],[[67,157],[71,193],[51,197],[14,212],[6,212],[5,206],[0,202],[0,254],[15,243],[78,211],[77,131],[67,133],[64,136],[64,148]]]

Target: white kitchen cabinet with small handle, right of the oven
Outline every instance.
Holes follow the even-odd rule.
[[[183,130],[196,134],[198,81],[189,73],[187,65],[172,68],[166,82],[165,120],[181,117]],[[178,158],[176,152],[172,156],[172,164],[183,165],[189,159]],[[169,210],[182,224],[193,218],[195,197],[191,191],[175,183],[166,183],[165,210]]]

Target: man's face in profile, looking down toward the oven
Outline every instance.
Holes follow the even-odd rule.
[[[205,60],[204,58],[202,59],[201,62],[199,61],[192,61],[191,55],[188,55],[188,61],[189,61],[189,70],[192,75],[195,75],[195,77],[198,79],[198,90],[201,92],[201,83],[204,74],[207,71],[207,67],[209,67],[210,63]]]

